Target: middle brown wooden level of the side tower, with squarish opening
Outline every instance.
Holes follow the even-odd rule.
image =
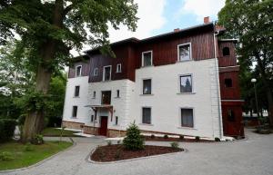
[[[232,87],[225,86],[225,79],[232,80]],[[240,99],[238,72],[219,73],[221,99],[238,100]]]

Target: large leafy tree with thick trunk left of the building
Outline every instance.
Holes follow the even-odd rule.
[[[43,104],[52,73],[69,61],[69,51],[83,44],[109,50],[108,25],[125,24],[136,29],[134,0],[1,0],[0,42],[18,34],[18,50],[35,72],[35,92],[28,112],[22,141],[30,141],[43,128]],[[37,100],[34,100],[34,99]],[[39,105],[34,103],[38,102]]]

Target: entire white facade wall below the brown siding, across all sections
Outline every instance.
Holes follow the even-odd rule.
[[[220,137],[222,126],[219,108],[217,60],[188,61],[149,66],[136,70],[136,82],[118,80],[88,83],[88,77],[68,79],[64,121],[84,122],[94,126],[91,115],[95,114],[86,105],[100,105],[102,91],[111,91],[114,107],[113,119],[106,110],[97,112],[95,126],[99,127],[99,116],[108,116],[108,129],[125,130],[136,121],[141,130],[161,131],[208,138]],[[179,75],[192,74],[193,93],[179,93]],[[142,94],[143,79],[152,79],[152,94]],[[80,97],[75,98],[75,86],[80,85]],[[119,90],[120,98],[116,98]],[[93,92],[96,91],[96,98]],[[72,106],[78,106],[77,118],[71,118]],[[142,124],[142,107],[152,108],[152,123]],[[181,108],[193,108],[194,128],[181,127]],[[116,125],[118,116],[118,125]]]

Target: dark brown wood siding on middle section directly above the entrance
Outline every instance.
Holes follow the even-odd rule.
[[[116,53],[116,58],[110,56],[95,54],[90,55],[90,76],[89,83],[101,82],[103,80],[103,70],[104,66],[111,65],[111,80],[122,80],[122,79],[131,79],[128,77],[128,70],[131,68],[128,62],[128,47],[127,46],[118,46],[112,48],[113,52]],[[116,73],[116,64],[121,63],[121,73]],[[95,68],[98,69],[97,76],[94,75]],[[129,71],[135,71],[132,68]]]

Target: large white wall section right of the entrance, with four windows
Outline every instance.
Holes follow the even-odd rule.
[[[215,59],[136,70],[136,96],[130,116],[140,129],[201,137],[219,136]],[[179,75],[192,74],[193,93],[179,93]],[[142,80],[152,79],[152,95],[142,95]],[[152,108],[152,123],[141,124],[142,107]],[[194,128],[181,127],[180,108],[193,108]]]

